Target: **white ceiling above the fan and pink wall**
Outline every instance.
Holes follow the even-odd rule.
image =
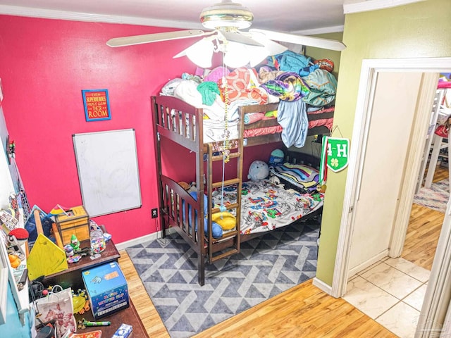
[[[202,28],[199,13],[221,0],[0,0],[0,13]],[[235,0],[254,13],[252,27],[285,32],[338,32],[350,0]]]

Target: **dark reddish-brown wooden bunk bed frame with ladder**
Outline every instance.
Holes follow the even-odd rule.
[[[243,120],[245,113],[266,112],[276,110],[277,104],[242,106],[239,109],[240,121]],[[186,124],[180,124],[180,120],[172,118],[178,114],[182,121]],[[215,151],[220,151],[223,142],[214,142],[204,144],[203,142],[203,125],[202,125],[202,108],[195,108],[186,102],[172,96],[152,96],[152,115],[154,119],[154,141],[156,146],[156,156],[158,165],[159,178],[159,220],[161,224],[161,235],[166,237],[166,229],[172,227],[175,229],[185,241],[190,244],[192,249],[197,253],[197,268],[199,284],[204,285],[205,282],[205,258],[211,263],[221,258],[230,256],[240,251],[240,243],[249,239],[260,236],[261,234],[240,234],[240,194],[237,194],[237,204],[230,206],[235,208],[237,215],[237,229],[223,234],[223,237],[215,239],[212,236],[211,214],[216,213],[218,209],[211,209],[206,214],[208,220],[208,231],[204,231],[204,192],[206,201],[211,205],[211,194],[214,187],[219,187],[218,183],[214,183],[211,178],[211,171],[204,170],[204,161],[214,161],[222,159],[222,155],[216,155]],[[328,118],[330,113],[321,117],[321,114],[314,115],[315,118]],[[243,146],[255,146],[259,144],[269,144],[280,142],[279,134],[269,134],[259,137],[249,137],[242,139],[245,129],[254,127],[267,127],[274,125],[272,120],[261,120],[252,125],[240,123],[239,139],[233,140],[233,149],[231,149],[230,157],[240,158],[242,156]],[[330,131],[326,127],[314,127],[309,130],[308,134],[329,134]],[[161,140],[171,139],[173,142],[184,146],[186,149],[196,154],[196,184],[197,199],[188,194],[183,187],[162,173],[161,170]],[[232,140],[231,140],[232,141]],[[286,160],[292,163],[304,163],[315,168],[319,167],[319,158],[302,154],[295,151],[285,151]],[[237,183],[237,191],[241,191],[242,184],[242,163],[237,161],[237,178],[228,180],[225,185]],[[241,165],[241,166],[240,166]],[[204,174],[206,171],[206,184],[204,184]],[[216,184],[216,186],[215,186]],[[199,198],[202,197],[202,198]],[[229,208],[229,207],[228,207]],[[190,211],[190,212],[189,212]],[[321,215],[322,208],[307,215],[309,218]],[[306,219],[306,216],[302,220]],[[191,226],[191,225],[194,225]],[[197,226],[202,225],[202,226]]]

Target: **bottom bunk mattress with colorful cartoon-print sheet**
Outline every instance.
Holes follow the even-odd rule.
[[[236,186],[218,189],[216,207],[236,203]],[[324,195],[302,194],[269,180],[243,182],[241,234],[266,232],[299,220],[323,206]]]

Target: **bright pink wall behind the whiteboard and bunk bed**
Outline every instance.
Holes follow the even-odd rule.
[[[30,204],[44,211],[82,204],[73,134],[135,128],[142,207],[93,219],[116,243],[158,230],[150,218],[158,194],[149,97],[168,80],[194,73],[187,58],[172,58],[194,40],[113,49],[105,44],[111,37],[168,29],[10,15],[0,15],[0,27],[3,108]],[[85,121],[82,89],[109,90],[111,120]],[[274,148],[261,149],[263,158]],[[245,176],[259,153],[247,158]]]

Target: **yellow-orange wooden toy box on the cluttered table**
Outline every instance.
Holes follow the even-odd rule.
[[[84,206],[74,206],[66,213],[58,213],[55,223],[63,245],[70,244],[73,234],[80,242],[89,239],[89,215]]]

